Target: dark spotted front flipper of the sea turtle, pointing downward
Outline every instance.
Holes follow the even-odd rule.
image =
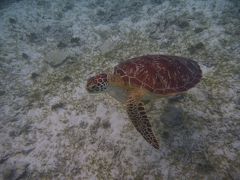
[[[159,149],[159,143],[153,133],[143,102],[137,100],[135,97],[129,97],[127,101],[127,113],[133,125],[144,139],[154,148]]]

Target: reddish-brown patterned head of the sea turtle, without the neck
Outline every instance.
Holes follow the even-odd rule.
[[[98,93],[108,87],[108,75],[105,73],[90,77],[87,81],[86,89],[90,93]]]

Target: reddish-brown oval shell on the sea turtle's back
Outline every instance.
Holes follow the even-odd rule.
[[[168,95],[186,91],[202,77],[197,62],[178,56],[145,55],[118,64],[114,74],[126,86],[143,87],[150,92]]]

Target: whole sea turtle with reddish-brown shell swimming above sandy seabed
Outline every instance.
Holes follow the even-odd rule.
[[[106,91],[126,103],[137,131],[159,149],[144,105],[158,97],[174,96],[195,86],[202,77],[197,62],[179,56],[145,55],[121,62],[112,74],[101,73],[87,81],[90,93]]]

